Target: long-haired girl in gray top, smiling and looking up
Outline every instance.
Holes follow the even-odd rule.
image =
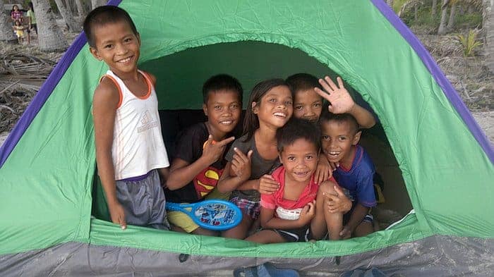
[[[246,238],[259,216],[260,193],[272,193],[279,184],[270,173],[279,164],[276,130],[293,112],[291,91],[282,79],[265,80],[252,90],[244,134],[235,140],[227,153],[228,161],[217,188],[232,192],[234,202],[243,212],[241,223],[223,233],[226,238]]]

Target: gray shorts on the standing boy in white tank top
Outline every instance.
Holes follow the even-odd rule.
[[[147,173],[142,180],[117,180],[116,198],[123,206],[128,224],[170,229],[157,169]]]

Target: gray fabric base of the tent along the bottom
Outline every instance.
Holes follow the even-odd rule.
[[[294,245],[292,244],[292,247]],[[297,245],[298,246],[298,245]],[[295,247],[294,247],[295,248]],[[493,240],[435,235],[380,250],[335,257],[221,257],[133,247],[66,242],[44,250],[0,256],[2,276],[232,276],[232,269],[270,262],[301,276],[341,276],[355,269],[380,269],[387,276],[491,276]],[[134,274],[135,273],[135,274]]]

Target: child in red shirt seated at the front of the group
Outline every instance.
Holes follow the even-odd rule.
[[[320,152],[318,128],[307,121],[291,118],[277,130],[276,137],[279,160],[283,165],[272,173],[272,177],[279,182],[279,188],[270,195],[261,195],[260,224],[263,230],[246,240],[260,243],[311,240],[311,222],[316,217],[316,206],[327,223],[328,232],[339,233],[344,212],[325,214],[323,210],[327,209],[327,204],[324,203],[336,201],[348,211],[351,202],[334,179],[320,186],[314,181]],[[316,204],[318,194],[321,196]]]

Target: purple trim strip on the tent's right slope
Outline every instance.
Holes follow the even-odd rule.
[[[484,152],[490,159],[491,162],[494,163],[494,149],[490,145],[486,135],[482,132],[481,128],[478,126],[474,117],[471,115],[469,109],[466,108],[465,104],[462,101],[462,98],[459,97],[457,91],[454,90],[449,80],[447,80],[442,70],[439,68],[438,64],[435,63],[432,56],[430,56],[429,52],[418,38],[414,35],[413,32],[406,27],[406,25],[399,19],[399,17],[392,11],[390,6],[387,6],[385,1],[382,0],[371,0],[376,8],[382,13],[385,18],[394,26],[394,28],[402,34],[402,37],[410,44],[411,48],[416,51],[416,54],[420,57],[423,64],[429,70],[430,74],[433,75],[438,85],[441,87],[442,92],[446,95],[447,99],[450,100],[451,104],[454,106],[454,109],[457,110],[459,116],[462,117],[466,127],[469,128],[472,135],[474,135],[478,144],[481,145]]]

